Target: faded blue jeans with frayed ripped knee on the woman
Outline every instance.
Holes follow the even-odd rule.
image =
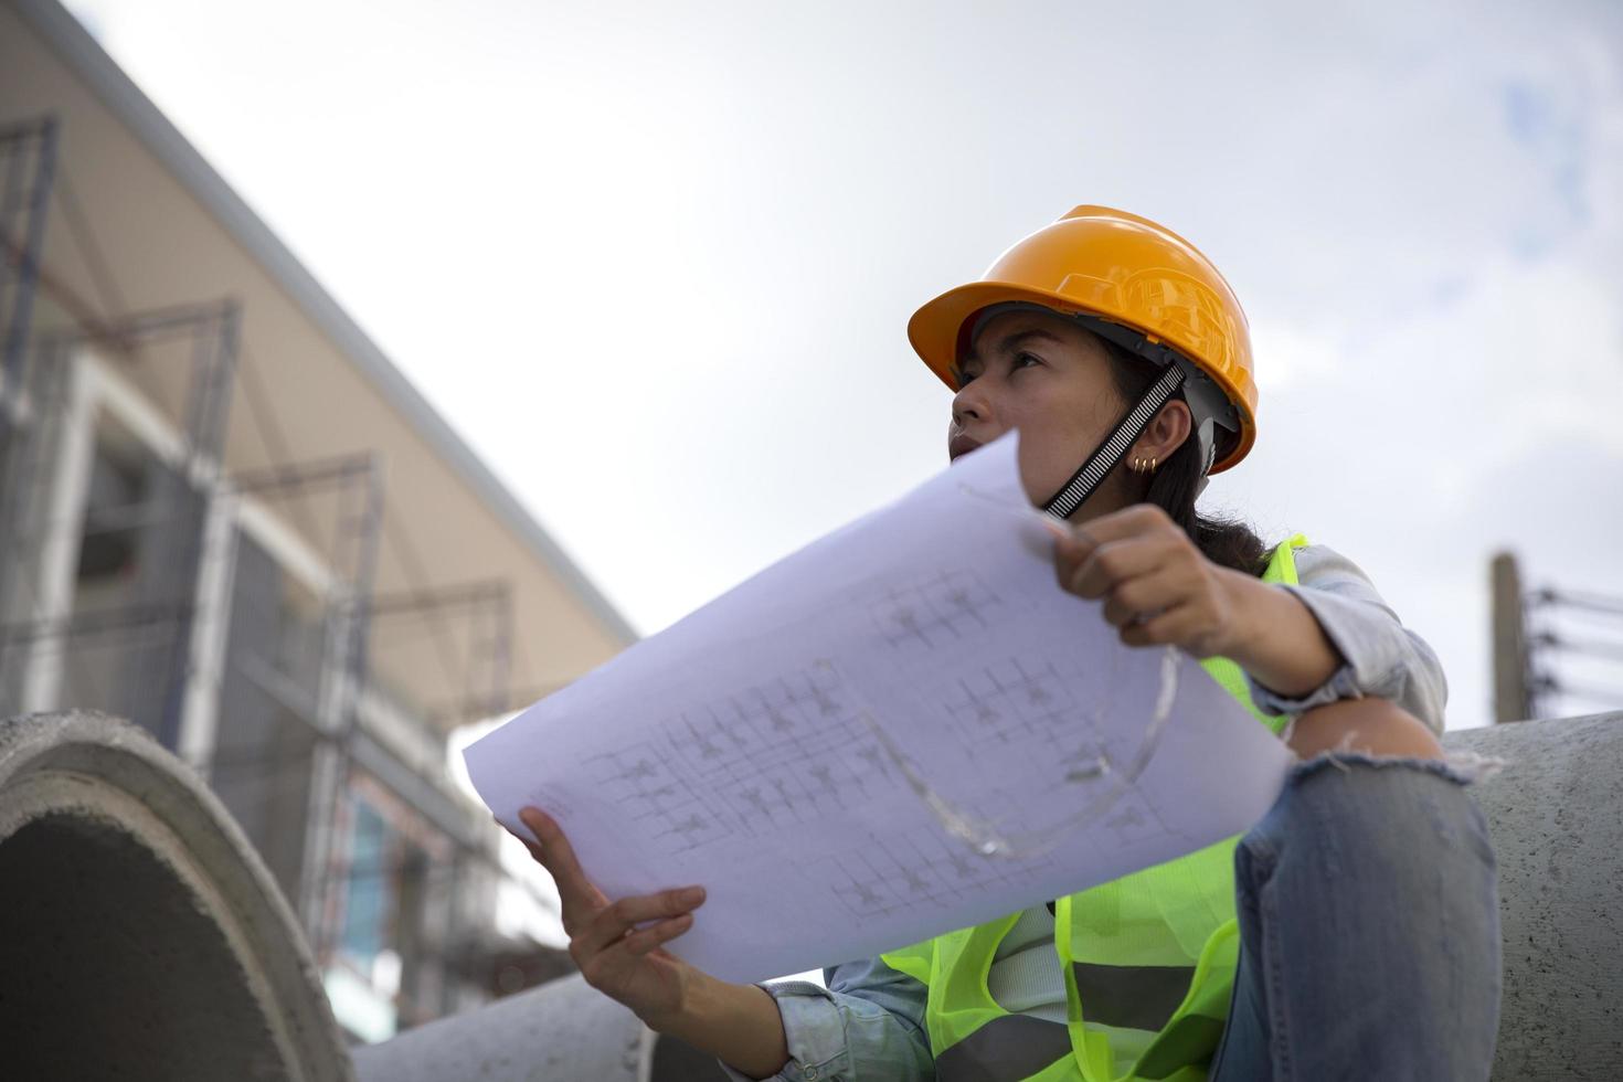
[[[1498,887],[1456,769],[1297,766],[1235,852],[1235,891],[1240,968],[1216,1082],[1488,1077]]]

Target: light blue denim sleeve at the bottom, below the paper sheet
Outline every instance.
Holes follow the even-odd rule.
[[[925,986],[880,959],[823,970],[810,981],[763,985],[777,1003],[789,1063],[774,1082],[925,1082],[935,1077],[923,1030]],[[734,1082],[750,1082],[722,1064]]]

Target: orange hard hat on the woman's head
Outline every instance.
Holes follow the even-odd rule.
[[[1034,303],[1081,316],[1104,337],[1146,357],[1170,347],[1216,383],[1212,474],[1237,464],[1256,441],[1251,334],[1240,300],[1211,260],[1147,217],[1107,206],[1079,206],[998,256],[979,282],[949,289],[907,321],[907,339],[941,381],[953,368],[977,313]],[[1225,399],[1225,402],[1222,402]],[[1193,406],[1191,397],[1191,406]]]

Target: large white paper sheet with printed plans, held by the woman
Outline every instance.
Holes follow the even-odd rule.
[[[1011,839],[1097,803],[1133,759],[1162,650],[1060,590],[1016,438],[768,568],[467,753],[497,816],[553,814],[609,897],[701,882],[670,949],[725,980],[829,965],[1193,852],[1255,822],[1289,753],[1178,660],[1154,758],[1102,816],[980,855],[906,782]],[[523,827],[519,827],[523,829]]]

